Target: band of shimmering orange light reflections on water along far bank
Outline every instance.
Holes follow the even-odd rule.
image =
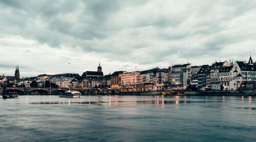
[[[185,105],[185,104],[191,104],[191,103],[206,103],[209,104],[209,107],[219,107],[218,103],[222,103],[222,105],[228,104],[230,101],[239,101],[242,103],[256,103],[255,97],[251,96],[241,96],[241,97],[227,97],[227,96],[215,96],[215,97],[209,97],[209,96],[202,96],[200,98],[196,96],[167,96],[167,97],[161,97],[161,96],[94,96],[91,98],[91,96],[84,97],[86,98],[86,101],[83,99],[57,99],[55,101],[53,100],[45,100],[39,101],[39,102],[29,102],[29,100],[26,100],[25,104],[31,105],[31,104],[45,104],[45,105],[74,105],[74,104],[85,104],[85,105],[108,105],[108,106],[118,106],[118,105],[137,105],[137,104],[148,104],[148,105]]]

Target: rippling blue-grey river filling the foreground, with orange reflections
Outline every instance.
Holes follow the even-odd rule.
[[[0,141],[256,141],[254,96],[19,96]]]

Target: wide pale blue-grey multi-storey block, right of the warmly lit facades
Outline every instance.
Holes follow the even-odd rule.
[[[179,64],[172,67],[172,89],[186,89],[190,84],[191,64]]]

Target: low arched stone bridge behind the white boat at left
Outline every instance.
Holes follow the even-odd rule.
[[[27,87],[7,87],[7,92],[17,92],[18,94],[57,94],[58,92],[68,91],[69,88],[27,88]],[[88,89],[71,89],[81,92],[82,94],[88,94]],[[1,87],[3,91],[3,87]]]

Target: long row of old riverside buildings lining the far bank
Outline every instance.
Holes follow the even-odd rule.
[[[33,81],[37,82],[38,87],[44,87],[45,81],[50,81],[60,88],[111,88],[120,91],[238,90],[246,83],[256,81],[256,63],[250,57],[249,62],[233,63],[230,60],[200,66],[186,63],[143,71],[116,71],[108,75],[103,75],[99,64],[97,71],[86,71],[81,76],[74,73],[44,74],[23,79],[19,79],[16,67],[15,77],[10,78],[14,78],[14,85],[25,87],[30,87]]]

